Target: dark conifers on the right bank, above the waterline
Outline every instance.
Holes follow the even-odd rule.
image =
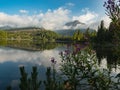
[[[104,21],[101,21],[98,27],[95,42],[98,44],[114,44],[118,45],[120,42],[120,25],[116,26],[113,22],[110,23],[109,28],[105,28]]]

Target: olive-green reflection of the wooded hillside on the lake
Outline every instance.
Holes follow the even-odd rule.
[[[0,42],[0,46],[23,49],[23,50],[30,50],[30,51],[43,51],[43,50],[50,50],[54,49],[62,44],[55,43],[55,42],[33,42],[30,40],[8,40]]]

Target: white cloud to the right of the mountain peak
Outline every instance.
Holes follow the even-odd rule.
[[[109,27],[109,24],[111,22],[110,18],[108,16],[100,16],[97,13],[90,11],[89,8],[85,8],[81,10],[84,14],[81,14],[79,16],[73,16],[72,20],[79,20],[82,23],[85,23],[85,25],[77,25],[75,28],[92,28],[97,30],[98,26],[100,25],[100,22],[104,20],[104,25],[106,28]]]

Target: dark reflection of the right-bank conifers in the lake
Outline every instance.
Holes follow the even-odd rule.
[[[99,65],[104,65],[110,71],[120,71],[120,47],[119,46],[107,46],[98,45],[95,48]]]

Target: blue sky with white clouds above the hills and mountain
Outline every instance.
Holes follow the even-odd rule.
[[[108,27],[110,19],[103,8],[106,0],[0,0],[0,27],[43,27],[69,29],[67,22],[85,25],[75,28],[97,29],[101,20]]]

